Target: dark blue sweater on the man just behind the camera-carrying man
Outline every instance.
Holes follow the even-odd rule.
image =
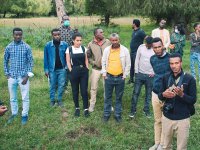
[[[155,73],[153,92],[158,94],[161,88],[162,78],[166,73],[171,72],[171,68],[169,66],[169,53],[166,53],[163,57],[158,57],[156,55],[151,56],[150,63]]]

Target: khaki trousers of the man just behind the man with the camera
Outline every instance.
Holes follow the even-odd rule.
[[[152,92],[152,106],[154,113],[154,140],[155,144],[163,145],[162,135],[162,107],[163,103],[159,100],[158,95]]]

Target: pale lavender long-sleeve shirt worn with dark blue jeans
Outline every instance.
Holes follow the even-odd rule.
[[[155,53],[153,49],[147,49],[145,44],[139,46],[135,58],[135,73],[154,74],[150,58]]]

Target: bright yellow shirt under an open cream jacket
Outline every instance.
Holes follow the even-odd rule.
[[[122,64],[120,60],[120,48],[110,49],[107,72],[112,75],[120,75],[123,73]]]

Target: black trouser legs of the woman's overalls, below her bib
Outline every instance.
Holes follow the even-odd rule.
[[[83,99],[83,109],[88,108],[88,69],[86,67],[73,67],[69,73],[72,86],[73,100],[76,108],[79,108],[79,86]]]

